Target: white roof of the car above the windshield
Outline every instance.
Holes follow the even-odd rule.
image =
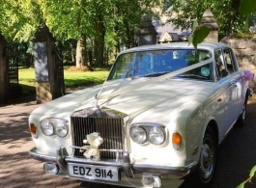
[[[208,49],[212,51],[214,48],[220,48],[220,47],[230,47],[224,43],[220,42],[202,42],[197,45],[198,49]],[[159,50],[159,49],[194,49],[194,46],[190,43],[188,45],[188,42],[182,41],[182,42],[171,42],[171,43],[160,43],[160,44],[154,44],[154,45],[142,45],[138,47],[129,48],[120,54],[128,53],[128,52],[134,52],[134,51],[144,51],[144,50]]]

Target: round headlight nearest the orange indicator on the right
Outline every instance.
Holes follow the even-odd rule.
[[[165,132],[160,127],[153,127],[149,131],[149,141],[154,145],[160,145],[165,141]]]

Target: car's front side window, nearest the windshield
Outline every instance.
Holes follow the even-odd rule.
[[[214,51],[214,58],[216,63],[216,78],[220,79],[227,76],[228,72],[226,70],[225,63],[222,61],[220,49]]]

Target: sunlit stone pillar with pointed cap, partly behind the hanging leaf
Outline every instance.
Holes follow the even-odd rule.
[[[203,14],[200,24],[210,28],[210,34],[204,41],[218,42],[219,27],[214,19],[213,13],[209,9],[207,9]]]

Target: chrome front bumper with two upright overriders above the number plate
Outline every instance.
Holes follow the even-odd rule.
[[[87,165],[102,165],[102,166],[113,166],[118,167],[128,177],[133,177],[134,174],[157,174],[157,175],[171,175],[175,179],[183,178],[185,175],[191,173],[197,166],[197,162],[191,162],[190,164],[183,167],[170,167],[170,166],[155,166],[151,164],[136,164],[130,163],[129,153],[124,152],[124,159],[122,161],[94,161],[90,159],[79,159],[68,155],[65,147],[57,148],[56,156],[38,153],[36,148],[32,148],[29,151],[29,155],[34,159],[43,162],[52,162],[58,164],[59,167],[66,171],[68,169],[68,163],[79,163]]]

